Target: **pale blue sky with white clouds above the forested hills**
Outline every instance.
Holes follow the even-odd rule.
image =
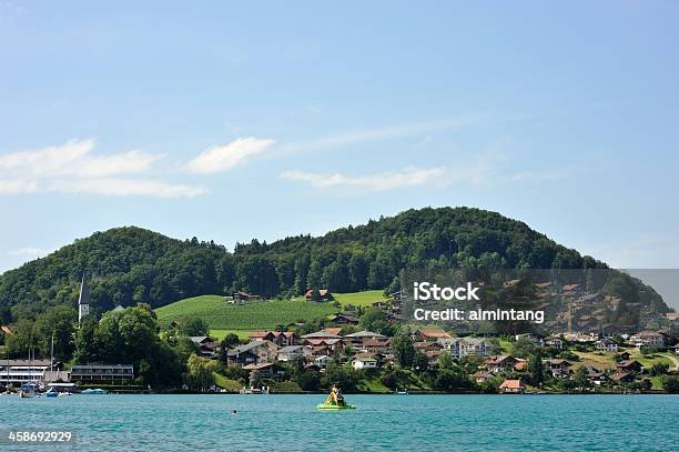
[[[110,3],[0,0],[0,271],[428,205],[679,268],[677,2]]]

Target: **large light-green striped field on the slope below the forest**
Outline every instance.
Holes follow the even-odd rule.
[[[324,319],[337,309],[332,303],[297,300],[273,300],[245,304],[229,304],[224,297],[201,295],[180,300],[155,310],[161,323],[188,315],[204,319],[211,331],[252,331],[273,329],[296,321]],[[226,334],[226,333],[224,333]]]

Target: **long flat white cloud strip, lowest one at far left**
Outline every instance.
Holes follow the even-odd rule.
[[[49,183],[45,191],[90,193],[113,197],[142,195],[156,198],[194,198],[207,193],[202,187],[173,184],[148,179],[60,179]]]

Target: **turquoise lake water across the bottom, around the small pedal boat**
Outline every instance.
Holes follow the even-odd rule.
[[[679,450],[678,395],[348,395],[356,410],[318,412],[323,399],[2,396],[0,425],[72,429],[79,451]]]

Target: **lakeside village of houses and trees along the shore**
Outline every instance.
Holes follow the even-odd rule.
[[[516,284],[508,281],[507,285]],[[537,284],[536,284],[537,285]],[[553,290],[551,285],[538,285]],[[669,328],[628,332],[604,324],[619,300],[584,294],[578,284],[560,288],[570,298],[569,318],[556,317],[551,332],[464,334],[448,325],[423,325],[402,315],[407,295],[397,292],[314,322],[294,322],[276,330],[210,335],[201,319],[176,319],[161,337],[189,343],[184,391],[302,392],[340,383],[347,392],[676,392],[679,382],[679,338],[676,313]],[[539,292],[545,293],[545,291]],[[548,292],[547,292],[548,293]],[[549,295],[549,293],[548,293]],[[549,300],[548,295],[538,295]],[[328,290],[310,290],[302,303],[331,303]],[[265,303],[237,292],[224,304]],[[549,309],[546,301],[539,309]],[[310,304],[311,305],[311,304]],[[601,307],[602,308],[599,308]],[[87,312],[82,305],[80,313]],[[118,307],[107,315],[123,314]],[[99,323],[107,319],[104,315]],[[586,318],[586,319],[584,319]],[[591,328],[588,319],[598,321]],[[82,319],[80,319],[82,320]],[[189,329],[189,323],[197,323]],[[563,327],[567,328],[564,331]],[[191,330],[193,328],[193,330]],[[3,334],[13,334],[2,327]],[[194,334],[195,333],[195,334]],[[202,333],[202,334],[197,334]],[[196,370],[197,369],[197,370]],[[140,383],[126,362],[61,363],[44,359],[0,361],[0,384],[57,382],[64,388],[113,385],[134,390]],[[139,386],[138,386],[139,389]]]

